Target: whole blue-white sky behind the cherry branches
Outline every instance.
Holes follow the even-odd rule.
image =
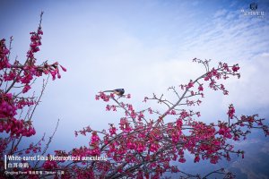
[[[60,118],[51,148],[71,149],[88,141],[87,137],[74,141],[75,130],[89,124],[106,129],[122,115],[106,112],[106,104],[95,101],[100,90],[125,88],[134,107],[143,108],[144,96],[167,93],[169,86],[204,72],[191,63],[194,57],[241,66],[241,78],[225,82],[229,97],[206,91],[201,120],[226,119],[230,103],[239,115],[258,113],[268,118],[269,2],[255,1],[257,11],[265,12],[263,17],[244,15],[241,10],[249,11],[252,2],[1,0],[0,37],[13,36],[12,57],[24,60],[29,32],[37,29],[39,13],[45,12],[37,57],[40,63],[58,61],[67,72],[61,80],[49,82],[34,124],[39,137],[51,133]],[[250,151],[256,145],[265,148],[256,158],[268,158],[268,139],[256,133],[252,140],[253,145],[249,141],[241,146]],[[245,161],[230,166],[242,177],[268,178],[265,171],[246,169],[247,157]],[[260,168],[268,166],[260,161],[251,160]]]

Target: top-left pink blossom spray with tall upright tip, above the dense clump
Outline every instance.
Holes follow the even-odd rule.
[[[4,71],[4,75],[0,76],[0,81],[1,84],[4,81],[13,81],[12,85],[10,85],[6,91],[11,90],[14,83],[20,82],[23,85],[22,93],[26,93],[30,90],[31,82],[37,77],[42,76],[42,74],[50,73],[52,75],[52,79],[55,80],[56,77],[61,78],[59,67],[66,72],[65,67],[57,62],[48,64],[48,61],[46,61],[43,64],[37,64],[37,59],[34,54],[39,52],[39,47],[41,46],[41,36],[43,35],[41,20],[38,30],[30,32],[30,49],[27,52],[27,59],[25,63],[21,64],[17,60],[14,60],[14,62],[11,63],[11,60],[9,59],[10,50],[5,46],[5,39],[2,39],[0,42],[0,70],[6,69]],[[11,38],[11,40],[12,39],[13,38]]]

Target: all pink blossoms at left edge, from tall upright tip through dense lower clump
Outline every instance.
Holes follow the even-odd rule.
[[[18,93],[18,90],[16,90],[17,94],[11,92],[11,90],[13,88],[20,89],[16,84],[21,84],[22,93],[27,93],[30,90],[32,81],[41,76],[42,73],[50,73],[53,80],[56,78],[56,75],[58,78],[61,77],[58,63],[48,64],[45,62],[41,65],[36,64],[37,59],[34,57],[34,54],[39,51],[41,36],[43,35],[41,20],[42,13],[38,30],[36,32],[30,32],[30,49],[27,52],[27,59],[24,64],[21,64],[17,60],[11,63],[9,59],[10,49],[6,47],[5,39],[0,41],[0,129],[1,132],[11,132],[12,136],[15,135],[18,137],[22,135],[29,137],[35,134],[32,125],[22,119],[18,120],[16,115],[18,114],[18,110],[23,110],[24,107],[35,106],[37,103],[34,98],[19,97],[21,93]],[[13,38],[11,38],[11,42],[12,40]],[[65,67],[59,66],[63,71],[66,71]]]

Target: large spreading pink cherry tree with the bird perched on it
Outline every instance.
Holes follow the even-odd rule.
[[[91,162],[87,170],[82,169],[85,166],[74,163],[65,167],[67,174],[84,178],[161,178],[165,172],[181,172],[178,166],[171,165],[171,161],[185,163],[187,151],[194,155],[195,163],[209,160],[216,164],[221,158],[230,160],[233,153],[244,158],[244,151],[235,150],[230,141],[246,138],[248,130],[252,128],[262,129],[268,135],[265,119],[260,119],[257,115],[238,117],[235,107],[230,105],[227,110],[229,121],[205,124],[196,119],[201,116],[200,112],[187,108],[201,104],[200,98],[204,98],[206,87],[221,90],[224,95],[228,95],[229,91],[219,81],[229,79],[230,76],[239,77],[239,64],[220,63],[211,69],[209,61],[196,58],[194,61],[204,65],[205,73],[187,84],[179,85],[179,88],[170,87],[169,90],[172,90],[176,99],[165,98],[164,95],[158,97],[155,94],[152,98],[144,98],[143,102],[153,100],[163,104],[167,107],[164,111],[152,107],[137,111],[132,104],[123,102],[130,95],[119,98],[113,93],[100,92],[96,95],[96,100],[101,99],[108,103],[107,111],[116,112],[122,109],[124,116],[119,119],[118,124],[109,124],[108,130],[95,131],[88,126],[75,132],[75,135],[89,133],[91,137],[89,147],[74,148],[71,153],[81,156],[98,153],[106,155],[108,161]],[[111,101],[112,104],[109,104]],[[93,149],[97,150],[92,154]],[[74,168],[76,174],[72,172]],[[227,178],[234,177],[229,171],[220,170],[214,173],[223,174]]]

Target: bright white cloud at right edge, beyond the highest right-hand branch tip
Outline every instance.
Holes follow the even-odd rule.
[[[249,109],[251,107],[269,106],[269,57],[257,55],[251,61],[243,61],[241,66],[241,78],[238,81],[230,81],[230,97],[223,103],[234,101],[236,106]]]

